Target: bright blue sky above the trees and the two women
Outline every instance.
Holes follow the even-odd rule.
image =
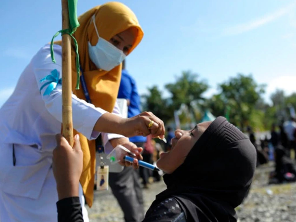
[[[79,0],[78,15],[107,1]],[[217,92],[237,73],[266,83],[266,101],[276,88],[296,92],[296,1],[121,1],[144,30],[127,57],[139,93],[175,81],[192,70]],[[0,8],[0,105],[12,93],[31,57],[61,27],[60,1],[3,1]],[[4,77],[4,78],[3,78]]]

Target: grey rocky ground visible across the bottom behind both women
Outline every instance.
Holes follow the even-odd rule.
[[[296,221],[296,184],[268,185],[268,173],[272,163],[256,170],[252,189],[237,207],[240,222],[295,222]],[[155,199],[155,195],[165,189],[163,181],[143,189],[145,210]],[[95,191],[94,205],[88,209],[91,222],[123,222],[123,213],[113,197],[111,190]]]

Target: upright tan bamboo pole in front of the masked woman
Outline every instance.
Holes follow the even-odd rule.
[[[68,1],[62,0],[62,29],[69,28]],[[63,136],[73,147],[71,36],[62,35],[62,121]]]

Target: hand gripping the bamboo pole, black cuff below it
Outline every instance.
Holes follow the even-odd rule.
[[[56,135],[56,140],[57,147],[53,150],[52,170],[57,182],[59,200],[78,197],[79,178],[83,166],[79,135],[74,136],[73,148],[61,134]]]

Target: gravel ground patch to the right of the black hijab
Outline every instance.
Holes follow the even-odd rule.
[[[296,221],[296,183],[267,185],[271,165],[257,169],[248,197],[236,209],[241,222]]]

